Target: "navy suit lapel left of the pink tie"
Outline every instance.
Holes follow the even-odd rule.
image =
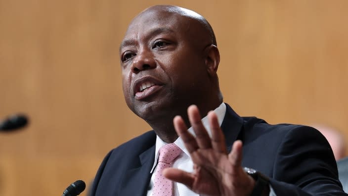
[[[143,196],[150,183],[150,171],[155,161],[155,145],[139,155],[138,167],[125,171],[120,196]]]

